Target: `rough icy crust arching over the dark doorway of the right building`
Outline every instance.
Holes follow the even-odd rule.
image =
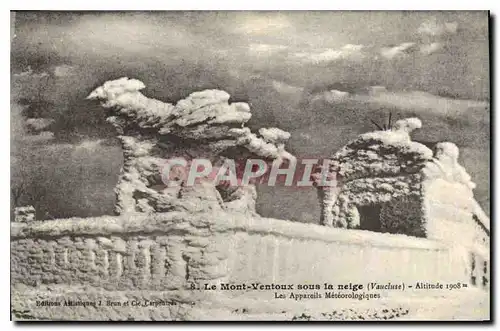
[[[410,139],[409,134],[420,127],[417,118],[403,119],[391,130],[362,134],[335,153],[329,172],[338,185],[318,186],[321,223],[356,228],[360,220],[355,206],[418,196],[419,173],[433,154]]]

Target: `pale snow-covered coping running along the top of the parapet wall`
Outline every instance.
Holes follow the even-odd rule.
[[[265,217],[249,217],[237,212],[170,212],[121,216],[67,218],[31,223],[11,223],[13,240],[22,238],[56,238],[62,236],[122,236],[129,233],[148,235],[156,232],[185,232],[200,234],[196,227],[206,228],[206,233],[245,231],[279,235],[296,239],[346,242],[356,245],[382,245],[437,249],[442,243],[402,234],[346,230],[317,224],[290,222]]]

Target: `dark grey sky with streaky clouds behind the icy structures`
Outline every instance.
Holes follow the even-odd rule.
[[[18,12],[14,18],[13,181],[24,172],[34,178],[23,199],[39,197],[44,213],[112,212],[121,152],[103,110],[84,98],[122,76],[142,80],[144,94],[168,102],[204,88],[226,90],[250,104],[251,127],[290,131],[288,147],[298,156],[328,156],[389,112],[396,119],[418,116],[418,139],[460,147],[489,212],[486,12]],[[16,172],[19,163],[26,169]],[[260,189],[266,216],[317,221],[316,206],[313,191]]]

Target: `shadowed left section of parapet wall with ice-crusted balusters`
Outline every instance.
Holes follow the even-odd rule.
[[[209,222],[209,221],[207,221]],[[223,233],[185,214],[35,222],[13,228],[11,279],[30,286],[180,289],[217,279]],[[207,260],[208,256],[211,260]],[[222,273],[224,274],[224,273]]]

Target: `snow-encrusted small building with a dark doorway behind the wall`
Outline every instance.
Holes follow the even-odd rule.
[[[321,223],[463,247],[474,252],[472,283],[487,285],[489,218],[474,199],[475,184],[458,163],[455,144],[411,140],[421,126],[418,118],[403,119],[390,130],[362,134],[335,153],[329,173],[336,185],[318,186]]]

